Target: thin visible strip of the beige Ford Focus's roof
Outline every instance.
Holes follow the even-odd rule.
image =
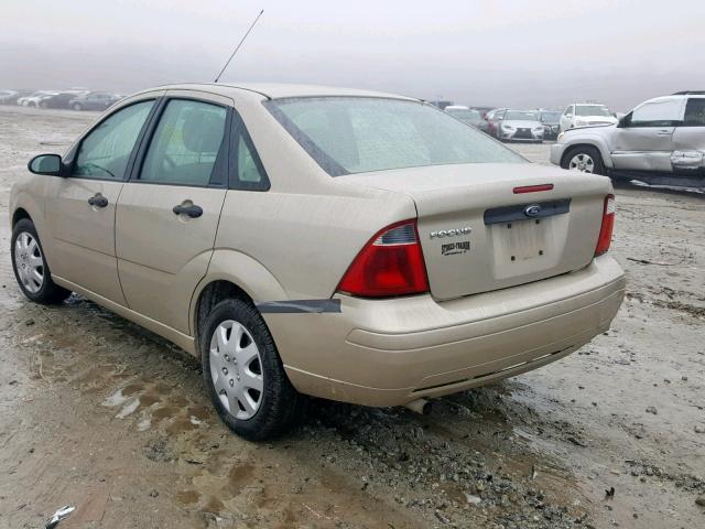
[[[397,94],[387,94],[383,91],[364,90],[357,88],[341,88],[336,86],[319,86],[319,85],[295,85],[284,83],[185,83],[164,85],[155,88],[160,89],[184,89],[184,90],[203,90],[212,94],[219,94],[223,96],[232,96],[234,93],[247,90],[256,94],[260,94],[269,99],[280,99],[286,97],[382,97],[393,99],[405,100],[419,100],[412,97],[400,96]],[[151,91],[150,90],[144,91]]]

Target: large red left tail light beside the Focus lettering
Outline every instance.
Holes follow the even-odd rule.
[[[392,224],[360,250],[338,291],[364,298],[389,298],[429,291],[415,220]]]

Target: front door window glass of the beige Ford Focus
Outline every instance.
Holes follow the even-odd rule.
[[[134,143],[153,106],[153,100],[135,102],[93,129],[80,142],[73,175],[123,180]]]

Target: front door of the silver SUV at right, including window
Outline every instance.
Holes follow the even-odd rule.
[[[663,98],[644,102],[617,127],[611,159],[616,169],[671,172],[673,131],[682,121],[684,100]]]

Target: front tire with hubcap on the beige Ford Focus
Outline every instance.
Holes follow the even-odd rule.
[[[34,223],[29,218],[22,218],[14,225],[10,253],[14,278],[28,299],[36,303],[54,304],[70,295],[69,290],[58,287],[52,280],[42,242]]]

